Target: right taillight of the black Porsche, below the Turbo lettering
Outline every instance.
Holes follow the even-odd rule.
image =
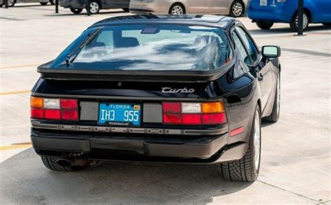
[[[223,103],[163,102],[163,124],[219,125],[226,122]]]

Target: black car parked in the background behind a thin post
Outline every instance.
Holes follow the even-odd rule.
[[[98,13],[101,9],[122,8],[128,12],[130,0],[90,0],[89,8],[91,14]],[[86,0],[59,0],[59,5],[64,8],[70,8],[73,13],[81,13],[84,8],[87,8]]]

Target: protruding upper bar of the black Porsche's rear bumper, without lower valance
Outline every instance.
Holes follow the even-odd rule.
[[[35,150],[93,153],[94,149],[133,151],[140,155],[157,157],[188,157],[207,159],[221,150],[228,143],[228,134],[200,141],[179,141],[172,139],[66,139],[61,137],[31,136]]]

